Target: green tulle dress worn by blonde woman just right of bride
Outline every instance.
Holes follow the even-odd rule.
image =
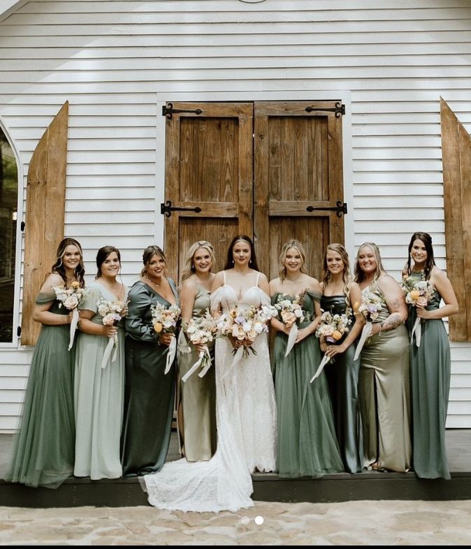
[[[293,296],[275,293],[272,305]],[[305,328],[315,316],[314,300],[320,293],[305,294],[303,310],[310,315],[298,328]],[[277,402],[277,469],[281,477],[319,477],[343,471],[331,398],[325,373],[310,379],[321,363],[319,342],[310,335],[296,344],[285,358],[288,336],[277,331],[273,349]]]

